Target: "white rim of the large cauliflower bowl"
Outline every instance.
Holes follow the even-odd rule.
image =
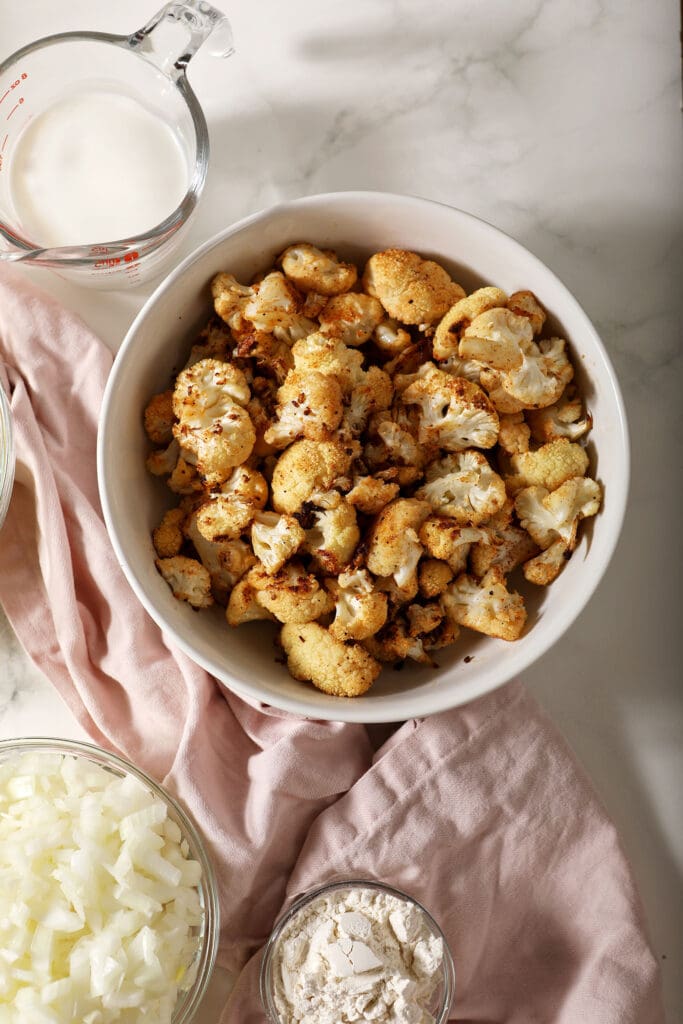
[[[186,641],[169,623],[164,620],[163,614],[156,607],[155,603],[147,598],[144,588],[138,581],[132,566],[128,563],[123,544],[117,532],[115,517],[112,511],[112,503],[110,502],[110,485],[105,473],[105,438],[111,430],[115,430],[115,395],[117,382],[123,372],[125,364],[130,358],[131,352],[134,350],[137,330],[140,324],[148,315],[152,307],[173,290],[176,282],[182,278],[193,263],[202,259],[207,253],[220,246],[228,238],[231,238],[246,228],[260,222],[267,222],[270,217],[276,214],[296,214],[297,210],[303,208],[322,208],[322,216],[325,216],[325,208],[330,204],[377,204],[382,202],[392,204],[394,206],[402,205],[407,208],[410,207],[414,212],[419,212],[421,209],[438,208],[447,211],[449,214],[455,213],[457,216],[462,217],[465,220],[473,221],[478,225],[480,230],[483,229],[484,233],[488,233],[494,240],[503,238],[506,246],[512,250],[516,250],[520,257],[530,261],[531,264],[536,265],[540,273],[545,274],[554,283],[555,287],[562,294],[564,308],[571,310],[571,312],[583,322],[586,332],[591,336],[591,342],[595,351],[600,356],[605,368],[606,383],[610,392],[610,400],[616,411],[618,438],[614,450],[617,453],[617,457],[621,458],[621,471],[618,479],[616,483],[612,485],[610,490],[610,517],[613,523],[613,529],[609,537],[603,541],[600,548],[592,552],[591,572],[587,572],[585,574],[586,578],[583,585],[580,588],[578,595],[573,598],[572,604],[566,610],[565,615],[562,618],[558,617],[552,627],[546,625],[543,634],[540,634],[539,638],[537,638],[536,645],[532,650],[525,650],[523,652],[523,657],[520,656],[519,653],[515,656],[514,650],[508,649],[506,657],[501,659],[501,665],[505,666],[505,669],[501,672],[501,677],[495,684],[482,684],[481,681],[478,683],[463,682],[456,700],[453,699],[453,694],[449,695],[449,691],[445,687],[441,687],[431,693],[415,692],[410,718],[424,718],[433,714],[438,714],[439,712],[449,711],[452,708],[460,707],[475,697],[482,696],[484,693],[492,692],[509,682],[518,673],[528,669],[531,665],[539,660],[540,657],[546,654],[548,650],[550,650],[560,637],[567,632],[581,612],[584,611],[601,582],[614,553],[614,549],[616,548],[616,544],[622,532],[629,493],[631,457],[626,409],[616,373],[604,343],[579,300],[573,296],[566,285],[564,285],[564,283],[557,276],[557,274],[551,270],[550,267],[543,262],[543,260],[536,256],[535,253],[496,225],[465,210],[461,210],[457,207],[450,206],[435,200],[424,199],[419,196],[374,189],[350,189],[347,191],[321,193],[276,203],[263,210],[259,210],[256,213],[250,214],[247,217],[243,217],[227,227],[217,231],[206,242],[202,243],[197,249],[189,253],[178,264],[178,266],[175,267],[175,269],[173,269],[169,274],[167,274],[166,278],[164,278],[162,282],[160,282],[152,295],[144,302],[126,333],[121,347],[115,357],[114,365],[106,382],[97,430],[97,482],[106,530],[115,550],[117,560],[137,599],[160,629],[168,633],[169,636],[173,638],[173,642],[177,644],[177,646],[185,654],[187,654],[187,656],[195,662],[195,664],[205,669],[210,675],[224,684],[231,692],[246,700],[251,701],[252,703],[255,702],[259,706],[274,707],[303,718],[324,721],[357,723],[394,722],[396,721],[396,712],[395,709],[393,711],[390,710],[390,701],[387,701],[387,710],[384,710],[384,701],[377,701],[376,703],[373,703],[372,691],[370,698],[355,697],[351,699],[346,697],[331,697],[330,703],[315,707],[311,707],[310,701],[306,697],[306,690],[303,685],[301,697],[291,696],[288,693],[271,693],[266,697],[258,684],[254,685],[250,681],[236,678],[228,669],[226,669],[223,665],[218,664],[216,658],[205,656],[204,654],[198,652],[190,642]],[[330,216],[329,210],[328,216]],[[508,645],[508,648],[513,647],[514,645]]]

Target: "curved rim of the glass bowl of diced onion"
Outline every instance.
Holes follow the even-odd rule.
[[[75,757],[86,757],[95,760],[102,766],[109,766],[115,771],[132,775],[145,788],[150,790],[156,797],[163,800],[177,815],[183,833],[183,839],[187,839],[189,850],[193,856],[197,857],[202,865],[202,879],[200,886],[203,894],[203,907],[205,913],[205,925],[202,933],[202,943],[197,955],[197,975],[189,988],[178,989],[176,1006],[173,1010],[170,1024],[190,1024],[202,999],[206,995],[209,982],[213,975],[216,957],[218,955],[218,943],[220,938],[220,903],[218,901],[218,881],[211,858],[209,856],[206,843],[199,830],[198,825],[193,820],[188,811],[173,797],[165,785],[158,782],[148,775],[142,768],[129,761],[121,754],[115,754],[96,743],[90,743],[83,739],[66,739],[57,736],[13,736],[9,739],[0,739],[0,762],[5,754],[20,754],[34,752],[58,752],[60,754],[73,755]]]

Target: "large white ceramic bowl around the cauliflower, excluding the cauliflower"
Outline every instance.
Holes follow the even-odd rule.
[[[583,524],[578,549],[555,583],[519,587],[528,610],[520,640],[507,643],[463,631],[453,647],[438,651],[438,669],[387,669],[366,695],[354,699],[328,696],[292,679],[275,660],[269,624],[233,630],[225,625],[222,608],[198,613],[175,600],[155,568],[150,536],[175,496],[145,470],[144,406],[168,387],[173,369],[185,360],[195,330],[208,319],[213,274],[229,270],[249,280],[299,241],[338,250],[359,264],[391,246],[413,249],[442,262],[468,291],[492,284],[507,292],[535,292],[554,321],[554,331],[569,341],[577,380],[594,420],[588,443],[591,473],[604,488],[601,512]],[[614,371],[593,325],[561,282],[513,239],[470,214],[372,191],[283,203],[221,231],[170,273],[143,306],[117,356],[104,395],[97,456],[112,543],[131,587],[166,634],[247,698],[311,718],[357,722],[395,722],[464,703],[545,653],[584,608],[607,567],[629,479],[628,432]],[[467,655],[471,659],[465,660]]]

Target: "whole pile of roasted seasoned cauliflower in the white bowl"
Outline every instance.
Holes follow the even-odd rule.
[[[397,249],[358,280],[308,242],[211,289],[142,411],[146,466],[181,496],[152,537],[174,596],[225,606],[226,628],[271,623],[291,675],[335,696],[434,666],[461,627],[517,639],[510,579],[551,584],[602,499],[537,296],[465,295]]]

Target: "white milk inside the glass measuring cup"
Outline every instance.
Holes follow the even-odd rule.
[[[42,248],[143,234],[175,210],[187,182],[169,126],[135,99],[99,90],[34,118],[10,167],[17,218]]]

